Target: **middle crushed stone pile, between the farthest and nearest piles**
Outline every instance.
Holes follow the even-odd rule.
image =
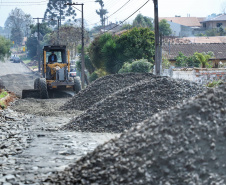
[[[196,83],[152,76],[95,103],[63,129],[120,133],[202,91]]]

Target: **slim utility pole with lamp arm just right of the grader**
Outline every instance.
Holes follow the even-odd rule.
[[[83,17],[83,6],[84,4],[81,3],[67,3],[64,5],[81,5],[82,6],[82,71],[81,71],[81,81],[82,81],[82,89],[85,87],[85,57],[84,57],[84,17]]]

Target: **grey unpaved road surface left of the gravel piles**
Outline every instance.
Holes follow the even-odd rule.
[[[21,96],[36,78],[23,64],[6,62],[0,69],[5,87]],[[67,98],[18,99],[0,112],[0,184],[37,184],[46,174],[63,170],[74,160],[119,134],[63,131],[81,111],[57,111]]]

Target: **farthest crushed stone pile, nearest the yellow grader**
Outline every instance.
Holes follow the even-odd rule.
[[[131,86],[141,80],[152,79],[153,76],[151,73],[127,73],[104,76],[76,94],[61,109],[86,110],[115,91]]]

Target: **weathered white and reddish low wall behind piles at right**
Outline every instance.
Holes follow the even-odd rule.
[[[207,84],[213,80],[223,80],[226,82],[226,68],[173,68],[165,69],[163,76],[171,78],[190,80],[199,84]]]

